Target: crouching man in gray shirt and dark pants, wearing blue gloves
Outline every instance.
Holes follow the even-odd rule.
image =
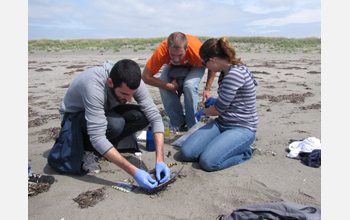
[[[138,105],[126,104],[132,98]],[[127,161],[116,147],[124,137],[150,123],[156,149],[156,178],[160,183],[170,179],[170,169],[164,163],[162,118],[141,80],[141,70],[136,62],[127,59],[117,63],[105,61],[102,67],[83,71],[69,86],[59,112],[62,123],[67,115],[81,112],[79,124],[85,137],[84,150],[97,151],[146,189],[156,187],[158,182]],[[85,166],[84,170],[88,169]],[[162,179],[161,173],[165,175]]]

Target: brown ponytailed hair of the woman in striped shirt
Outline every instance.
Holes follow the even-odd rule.
[[[219,40],[211,38],[205,41],[199,50],[199,56],[203,60],[218,57],[228,60],[234,65],[245,65],[240,58],[236,58],[235,48],[225,37],[221,37]]]

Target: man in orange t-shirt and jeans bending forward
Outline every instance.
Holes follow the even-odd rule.
[[[194,114],[197,111],[198,87],[204,75],[205,67],[199,56],[202,46],[196,37],[181,32],[174,32],[163,41],[142,73],[142,80],[159,88],[164,109],[170,118],[170,130],[179,131],[187,124],[191,128],[196,124]],[[155,78],[164,65],[160,78]],[[210,87],[215,72],[208,70],[208,79],[203,92],[203,101],[210,97]],[[180,96],[184,94],[185,112]]]

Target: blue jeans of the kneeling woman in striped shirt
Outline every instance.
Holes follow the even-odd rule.
[[[184,161],[199,161],[206,171],[222,170],[249,160],[254,141],[255,132],[248,128],[225,127],[214,120],[185,140],[180,156]]]

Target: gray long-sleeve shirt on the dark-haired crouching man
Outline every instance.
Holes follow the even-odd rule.
[[[114,64],[113,61],[105,61],[102,67],[90,68],[79,74],[70,84],[59,108],[61,115],[85,111],[90,141],[102,155],[113,147],[106,137],[105,111],[119,105],[107,84]],[[133,98],[151,123],[152,132],[164,133],[161,115],[142,80]]]

